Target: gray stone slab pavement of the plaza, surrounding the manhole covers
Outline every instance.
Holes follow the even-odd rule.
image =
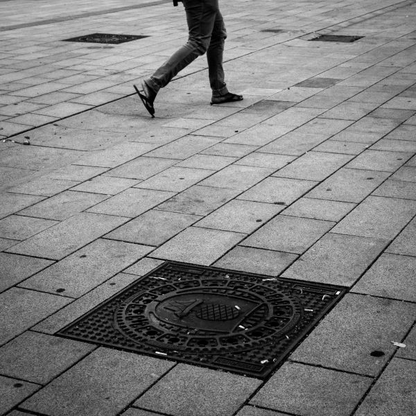
[[[0,1],[0,414],[415,415],[416,1],[220,0],[155,119],[182,7],[91,3]],[[349,293],[264,382],[54,336],[166,259]]]

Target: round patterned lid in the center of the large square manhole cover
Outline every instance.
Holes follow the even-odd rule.
[[[300,322],[302,310],[296,297],[259,283],[156,280],[119,304],[114,327],[155,349],[219,354],[275,343]]]

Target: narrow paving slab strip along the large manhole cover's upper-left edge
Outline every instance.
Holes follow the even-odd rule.
[[[84,315],[98,304],[101,304],[101,302],[104,302],[112,295],[119,293],[125,286],[128,286],[135,280],[137,280],[136,275],[119,273],[100,286],[94,288],[89,293],[73,301],[71,304],[68,304],[56,313],[53,313],[49,318],[42,320],[42,322],[33,327],[33,330],[52,335],[74,320],[80,318],[80,316]]]

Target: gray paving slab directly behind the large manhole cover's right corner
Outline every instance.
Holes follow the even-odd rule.
[[[330,232],[288,268],[283,277],[352,286],[387,244],[387,240]]]

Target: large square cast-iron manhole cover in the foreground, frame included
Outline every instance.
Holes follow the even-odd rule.
[[[166,262],[58,335],[264,378],[345,291]]]

